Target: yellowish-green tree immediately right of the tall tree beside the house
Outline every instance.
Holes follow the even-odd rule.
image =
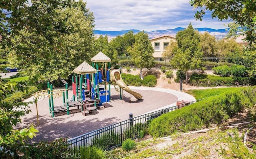
[[[215,36],[211,36],[208,32],[204,32],[204,34],[200,34],[200,42],[203,56],[214,57],[214,53],[216,52]]]

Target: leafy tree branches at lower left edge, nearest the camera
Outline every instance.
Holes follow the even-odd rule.
[[[24,146],[24,141],[28,137],[33,138],[38,132],[33,124],[21,130],[14,129],[21,122],[20,117],[30,112],[27,102],[7,99],[6,94],[16,89],[16,82],[5,83],[0,79],[0,158],[17,158],[17,145]]]

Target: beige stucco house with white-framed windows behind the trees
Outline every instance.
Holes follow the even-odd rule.
[[[162,57],[162,53],[164,52],[165,48],[169,46],[171,40],[176,42],[176,38],[167,35],[149,40],[154,48],[153,56],[158,58],[156,60],[161,60],[160,58]]]

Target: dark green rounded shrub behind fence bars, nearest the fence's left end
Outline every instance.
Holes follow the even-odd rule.
[[[120,135],[114,131],[103,133],[100,136],[92,139],[94,146],[104,150],[110,149],[111,147],[118,145],[120,142]]]

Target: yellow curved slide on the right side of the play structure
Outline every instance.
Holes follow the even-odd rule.
[[[120,77],[120,79],[116,79],[116,77]],[[119,72],[119,70],[112,70],[112,72],[110,73],[110,80],[111,81],[115,81],[117,83],[117,85],[124,89],[126,92],[134,95],[134,97],[136,97],[136,99],[142,99],[142,95],[140,95],[140,93],[137,93],[135,91],[132,91],[123,81],[121,74]]]

